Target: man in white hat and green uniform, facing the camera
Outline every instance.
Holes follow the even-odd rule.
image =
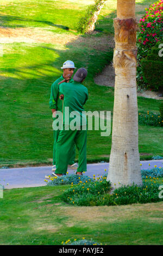
[[[73,71],[74,69],[76,69],[74,67],[74,63],[71,60],[67,60],[61,67],[61,69],[64,71],[63,75],[61,75],[61,77],[59,77],[53,84],[51,87],[51,97],[49,100],[49,107],[52,109],[52,113],[53,113],[53,120],[55,120],[55,113],[56,111],[61,111],[62,112],[62,100],[60,100],[59,96],[59,85],[58,83],[60,83],[62,80],[65,79],[65,81],[67,83],[64,83],[65,86],[67,86],[68,83],[72,83],[72,75],[73,75]],[[53,137],[54,137],[54,145],[53,145],[53,167],[52,167],[52,171],[54,171],[55,168],[55,154],[56,154],[56,143],[57,143],[57,139],[59,136],[59,132],[60,130],[53,130]],[[72,147],[71,149],[71,153],[70,153],[70,159],[68,162],[68,167],[71,169],[77,169],[78,164],[74,163],[74,159],[75,159],[75,155],[76,155],[76,149],[75,146]]]

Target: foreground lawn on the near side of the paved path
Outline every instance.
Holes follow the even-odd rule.
[[[162,184],[163,180],[156,182]],[[162,202],[74,206],[60,199],[68,187],[4,190],[1,245],[61,245],[83,237],[103,245],[162,245]]]

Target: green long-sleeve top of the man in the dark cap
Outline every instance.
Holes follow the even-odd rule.
[[[84,104],[88,99],[88,91],[82,83],[73,81],[71,83],[61,83],[59,86],[60,94],[64,94],[64,113],[65,107],[69,107],[69,119],[70,121],[73,119],[71,118],[72,111],[78,112],[78,118],[80,119],[80,124],[86,124],[86,117],[82,113],[84,111]],[[63,123],[65,123],[65,114]]]

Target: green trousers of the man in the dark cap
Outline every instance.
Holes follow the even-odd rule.
[[[86,172],[86,130],[61,130],[56,144],[55,173],[66,174],[74,143],[79,151],[77,172]]]

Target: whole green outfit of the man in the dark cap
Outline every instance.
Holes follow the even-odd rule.
[[[64,94],[64,115],[63,129],[60,131],[56,145],[56,170],[57,174],[66,174],[68,160],[71,156],[73,144],[79,151],[78,169],[77,172],[86,172],[86,117],[82,113],[84,104],[88,99],[87,88],[82,83],[73,81],[72,83],[62,83],[59,86],[59,92]],[[66,121],[65,107],[69,107],[69,122]],[[74,117],[70,114],[72,111],[78,112],[80,126],[76,130],[71,130],[70,125]],[[77,120],[77,119],[76,119]],[[78,122],[77,122],[78,123]],[[79,124],[78,123],[78,124]],[[69,125],[69,130],[67,126]]]

